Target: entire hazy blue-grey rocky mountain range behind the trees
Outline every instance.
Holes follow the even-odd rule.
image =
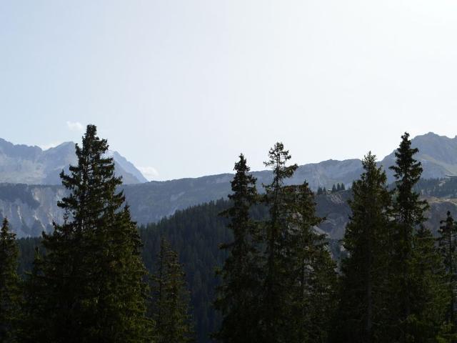
[[[435,179],[445,177],[446,174],[457,174],[457,137],[450,139],[428,133],[416,136],[412,143],[420,149],[416,158],[423,164],[423,178]],[[61,221],[61,211],[56,207],[56,202],[65,194],[62,187],[36,184],[59,184],[60,170],[76,162],[74,144],[61,144],[46,151],[36,146],[14,146],[12,149],[11,145],[0,141],[0,182],[4,182],[0,184],[0,219],[4,216],[9,217],[11,227],[20,237],[36,236],[42,230],[49,231],[53,220]],[[116,161],[116,172],[124,177],[126,199],[131,207],[132,217],[139,224],[158,222],[174,214],[178,209],[220,199],[230,192],[233,174],[145,182],[133,164],[116,152],[110,154]],[[387,169],[394,161],[392,153],[379,164]],[[330,188],[336,183],[346,184],[347,187],[361,172],[360,159],[328,160],[299,166],[287,183],[301,184],[306,180],[315,190],[318,187]],[[261,189],[262,183],[267,184],[271,181],[269,171],[253,172],[253,175],[258,179],[258,189]],[[391,171],[388,171],[388,180],[393,181]],[[324,231],[337,238],[341,237],[347,214],[335,214],[333,219],[330,214],[338,212],[338,208],[341,208],[341,213],[347,212],[346,203],[341,203],[340,198],[331,198],[331,202],[321,201],[321,206],[326,209],[323,212],[327,213],[329,221],[326,225],[330,225]]]

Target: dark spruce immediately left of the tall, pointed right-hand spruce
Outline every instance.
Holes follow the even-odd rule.
[[[386,173],[369,152],[353,182],[352,214],[344,234],[348,257],[341,262],[341,302],[334,342],[389,342],[383,333],[388,271],[389,207]]]

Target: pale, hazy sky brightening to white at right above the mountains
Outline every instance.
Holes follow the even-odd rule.
[[[455,0],[0,0],[0,137],[96,124],[149,179],[457,134]]]

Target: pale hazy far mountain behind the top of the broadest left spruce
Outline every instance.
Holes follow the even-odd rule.
[[[61,184],[59,173],[76,164],[74,143],[69,141],[51,149],[39,146],[16,145],[0,139],[0,182],[11,184]],[[116,174],[124,184],[147,182],[138,169],[117,151],[109,151],[114,158]]]

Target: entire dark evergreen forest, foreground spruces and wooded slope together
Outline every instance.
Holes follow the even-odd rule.
[[[457,225],[443,213],[433,237],[420,196],[457,184],[421,179],[408,134],[394,184],[364,157],[343,254],[316,230],[308,184],[285,184],[297,166],[281,143],[271,183],[241,154],[229,199],[139,228],[106,149],[89,125],[52,234],[16,240],[4,220],[1,342],[456,342]]]

